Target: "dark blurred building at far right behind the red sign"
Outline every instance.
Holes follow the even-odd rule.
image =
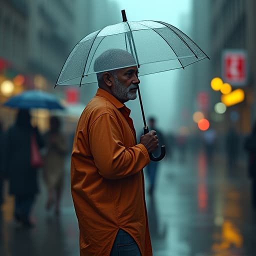
[[[255,51],[256,42],[256,3],[254,0],[220,0],[210,1],[210,30],[212,65],[211,75],[221,77],[223,50],[241,49],[247,53],[247,80],[241,87],[245,91],[245,100],[227,108],[226,120],[232,121],[232,113],[237,113],[236,126],[240,132],[246,133],[251,121],[256,117],[253,105],[253,94],[256,76]]]

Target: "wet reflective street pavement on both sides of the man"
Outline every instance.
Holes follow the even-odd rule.
[[[256,255],[256,213],[250,206],[245,166],[241,161],[228,171],[223,157],[215,155],[208,163],[202,151],[185,159],[174,153],[161,161],[155,193],[146,193],[153,255]],[[1,256],[79,255],[68,168],[65,181],[59,216],[45,211],[46,191],[41,184],[32,214],[36,225],[31,229],[15,223],[14,199],[6,195],[0,222]]]

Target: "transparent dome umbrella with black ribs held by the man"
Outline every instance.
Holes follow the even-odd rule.
[[[81,86],[97,82],[97,72],[126,67],[125,62],[116,64],[109,58],[109,61],[94,70],[95,59],[109,48],[131,53],[139,76],[184,68],[204,58],[209,59],[200,47],[178,28],[162,21],[127,21],[125,11],[121,12],[122,22],[92,32],[74,46],[64,62],[55,86]],[[148,129],[139,89],[138,96],[146,132]],[[162,152],[165,150],[163,146],[161,149]],[[164,156],[164,153],[159,157],[150,158],[159,160],[162,155]]]

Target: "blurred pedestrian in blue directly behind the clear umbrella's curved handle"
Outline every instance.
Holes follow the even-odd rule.
[[[163,133],[161,132],[161,130],[159,130],[158,127],[156,127],[156,119],[153,116],[148,118],[148,127],[150,130],[156,131],[159,145],[165,144],[164,143],[165,141],[163,138]],[[153,152],[153,155],[158,156],[158,155],[160,155],[160,153],[161,153],[161,149],[160,149],[160,147],[158,147]],[[146,173],[149,177],[149,189],[148,189],[149,195],[153,195],[153,192],[154,192],[156,174],[157,174],[157,170],[158,170],[158,166],[159,166],[158,164],[159,164],[158,161],[150,160],[150,162],[146,165]]]

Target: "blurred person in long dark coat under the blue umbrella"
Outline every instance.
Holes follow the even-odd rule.
[[[35,134],[38,147],[43,140],[37,128],[30,124],[27,109],[20,109],[16,120],[6,133],[4,168],[9,181],[9,193],[15,196],[14,217],[31,227],[30,212],[38,192],[37,168],[31,166],[31,135]]]

